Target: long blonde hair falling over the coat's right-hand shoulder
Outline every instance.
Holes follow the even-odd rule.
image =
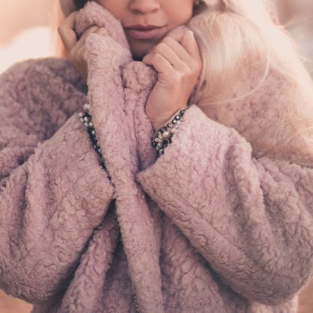
[[[61,5],[65,16],[77,10],[72,0]],[[190,101],[245,136],[255,156],[313,166],[313,82],[269,1],[200,0],[188,27],[203,61]],[[238,120],[239,107],[254,125]]]

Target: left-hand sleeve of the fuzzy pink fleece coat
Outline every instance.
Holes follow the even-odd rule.
[[[45,83],[27,90],[38,75],[15,65],[0,77],[0,288],[30,303],[67,287],[113,198],[77,113],[42,139],[53,117],[38,107]]]

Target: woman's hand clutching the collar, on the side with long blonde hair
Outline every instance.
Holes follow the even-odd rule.
[[[143,58],[158,72],[158,80],[145,104],[145,113],[158,129],[187,105],[202,70],[198,42],[190,30],[172,31]]]

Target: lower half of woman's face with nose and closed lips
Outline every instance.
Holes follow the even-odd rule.
[[[120,20],[134,60],[140,61],[147,51],[169,31],[191,19],[194,0],[97,0],[96,2]],[[149,32],[127,29],[136,24],[161,26],[161,28]],[[150,38],[146,38],[148,36]]]

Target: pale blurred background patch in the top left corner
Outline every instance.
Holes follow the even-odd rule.
[[[53,0],[1,0],[0,72],[26,58],[51,56]]]

